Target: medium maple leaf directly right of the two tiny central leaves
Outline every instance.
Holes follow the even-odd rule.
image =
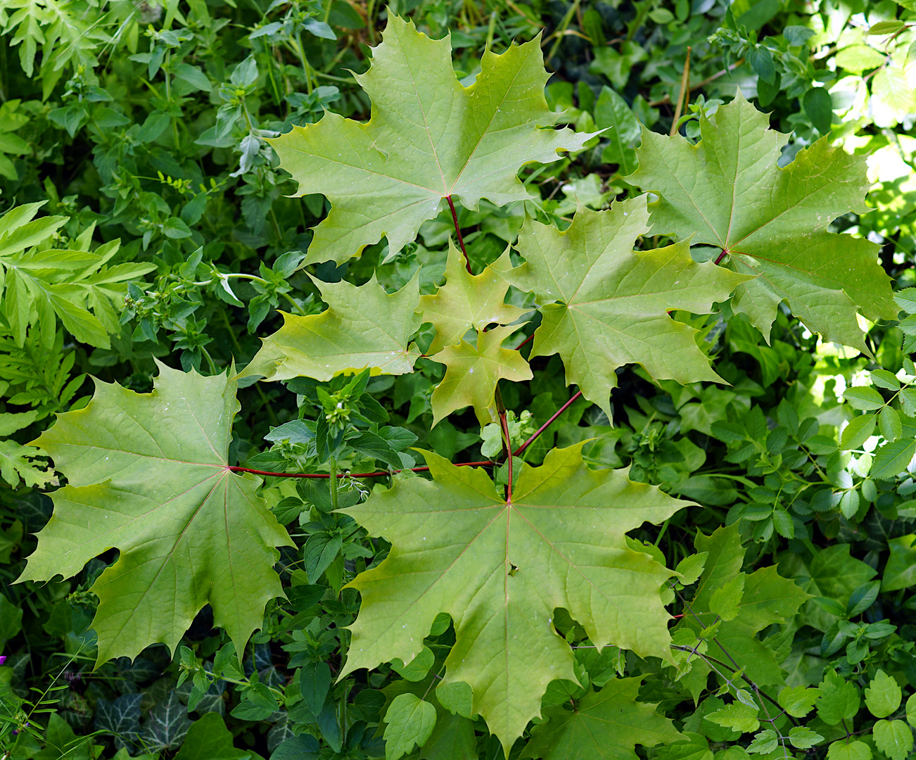
[[[721,382],[696,345],[697,331],[667,312],[709,312],[747,280],[696,263],[686,241],[633,250],[648,219],[639,196],[607,211],[580,208],[565,232],[529,220],[518,233],[525,263],[502,272],[544,304],[530,356],[560,354],[567,385],[578,385],[608,416],[614,370],[625,364],[641,364],[657,380]]]

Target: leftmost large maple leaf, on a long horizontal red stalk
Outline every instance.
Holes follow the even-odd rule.
[[[237,652],[282,596],[276,546],[293,545],[259,497],[260,480],[228,469],[234,380],[159,365],[155,389],[95,381],[85,408],[58,415],[35,446],[69,484],[18,578],[82,570],[120,556],[93,584],[98,664],[149,644],[175,648],[205,604]]]

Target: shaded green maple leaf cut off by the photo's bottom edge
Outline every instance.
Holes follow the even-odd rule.
[[[638,702],[642,678],[612,678],[588,690],[575,710],[550,707],[535,726],[521,757],[542,760],[636,760],[637,744],[651,747],[682,739],[656,705]]]

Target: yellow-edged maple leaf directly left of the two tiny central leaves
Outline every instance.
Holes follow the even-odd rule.
[[[410,344],[420,327],[420,272],[390,295],[375,274],[360,287],[342,280],[312,278],[328,309],[322,314],[283,314],[283,326],[263,345],[239,377],[265,380],[307,377],[331,380],[338,372],[373,369],[373,374],[413,371],[420,349]]]

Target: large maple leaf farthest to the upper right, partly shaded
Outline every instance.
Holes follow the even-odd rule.
[[[856,309],[872,321],[896,319],[889,277],[876,244],[827,232],[837,216],[869,210],[866,157],[824,137],[780,169],[785,136],[768,126],[739,92],[700,117],[696,145],[643,127],[639,168],[627,181],[661,195],[653,234],[693,236],[721,248],[736,271],[759,275],[736,288],[732,307],[768,342],[786,301],[813,332],[867,351]]]

